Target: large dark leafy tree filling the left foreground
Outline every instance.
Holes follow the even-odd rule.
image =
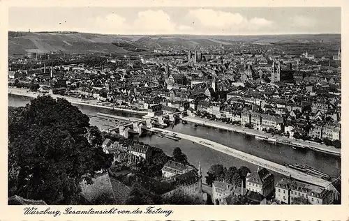
[[[8,109],[8,197],[77,204],[81,177],[107,169],[101,132],[70,102],[43,96]]]

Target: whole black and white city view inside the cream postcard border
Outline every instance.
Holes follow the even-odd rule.
[[[341,22],[9,7],[8,205],[341,205]]]

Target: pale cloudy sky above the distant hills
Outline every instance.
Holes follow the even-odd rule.
[[[120,35],[341,33],[341,8],[11,7],[8,29]]]

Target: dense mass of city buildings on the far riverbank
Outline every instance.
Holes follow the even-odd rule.
[[[339,52],[331,61],[339,61],[340,56]],[[42,93],[64,93],[136,109],[161,104],[163,109],[207,112],[217,119],[252,124],[256,130],[272,128],[313,139],[341,140],[341,68],[309,65],[313,60],[307,52],[217,55],[195,49],[188,50],[187,56],[107,58],[109,62],[96,66],[52,66],[50,60],[43,60],[34,61],[40,63],[36,69],[11,68],[28,62],[19,59],[10,61],[8,79],[13,85],[34,82]]]

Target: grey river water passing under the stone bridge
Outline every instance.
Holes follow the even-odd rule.
[[[8,96],[8,106],[19,107],[24,106],[30,102],[32,98],[26,98],[22,96]],[[119,116],[135,116],[124,112],[119,112],[110,109],[103,109],[99,107],[89,107],[85,105],[75,105],[79,107],[82,113],[88,115],[96,115],[97,112],[103,112],[106,114],[115,114]],[[135,116],[139,117],[139,116]],[[98,128],[103,128],[101,122],[94,119],[90,120],[91,125],[96,125]],[[293,149],[290,146],[283,144],[271,144],[268,142],[258,141],[254,137],[248,135],[242,135],[236,132],[226,132],[222,130],[216,130],[214,128],[194,127],[193,124],[179,123],[174,127],[166,128],[166,130],[172,130],[174,132],[181,132],[187,135],[195,137],[202,137],[214,142],[218,142],[225,146],[230,146],[239,151],[244,151],[252,155],[256,155],[265,160],[270,160],[279,164],[299,164],[308,165],[314,169],[318,169],[321,172],[325,172],[331,176],[339,176],[341,174],[341,158],[327,153],[320,153],[312,151],[310,149],[297,148]],[[207,170],[211,165],[222,164],[225,167],[235,166],[237,168],[246,166],[251,170],[257,169],[255,165],[252,165],[244,160],[233,158],[230,155],[221,153],[219,151],[212,150],[200,144],[194,144],[193,142],[181,139],[179,142],[172,139],[161,138],[158,136],[140,137],[140,141],[151,146],[161,148],[167,155],[172,155],[172,151],[175,147],[179,146],[181,150],[188,156],[188,161],[202,168],[202,172],[205,176]],[[281,178],[280,174],[275,174],[276,180]]]

